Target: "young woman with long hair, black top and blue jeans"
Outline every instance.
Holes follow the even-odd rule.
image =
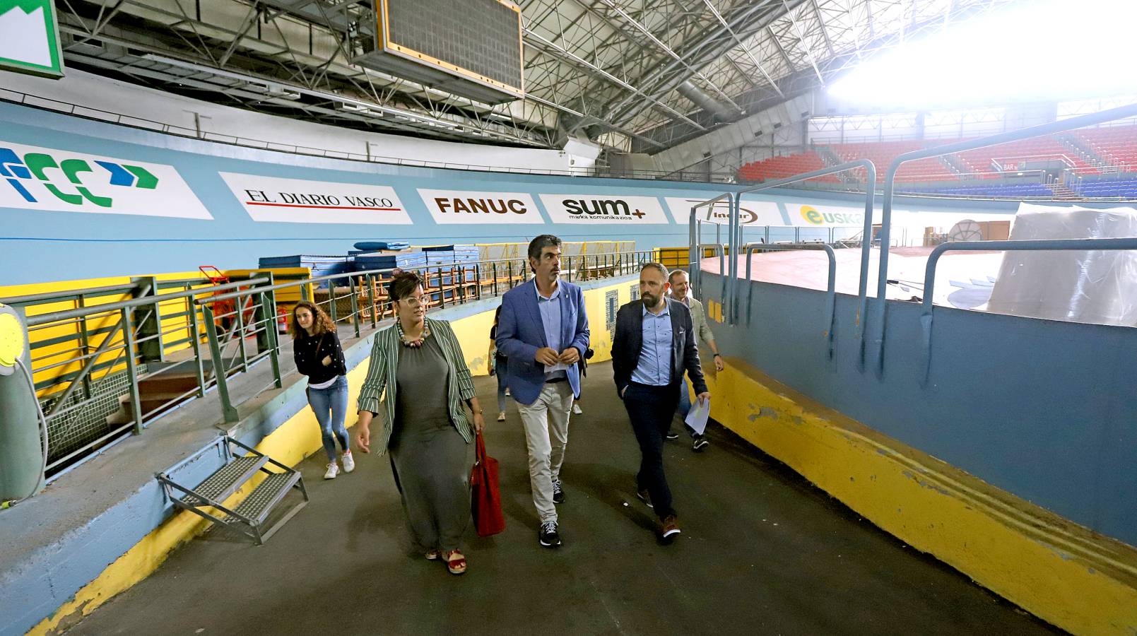
[[[324,438],[324,452],[327,453],[324,479],[335,479],[340,473],[335,463],[337,440],[343,449],[343,472],[355,470],[348,429],[343,426],[348,412],[348,369],[343,348],[335,336],[332,319],[307,300],[297,303],[292,308],[289,332],[292,334],[292,360],[297,371],[308,377],[308,404],[316,414]]]

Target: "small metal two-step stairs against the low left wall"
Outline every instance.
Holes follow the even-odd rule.
[[[174,481],[171,477],[210,452],[219,452],[225,465],[200,484],[189,487]],[[223,505],[233,493],[260,473],[264,473],[264,479],[241,503],[233,509]],[[175,507],[205,517],[214,523],[234,528],[256,539],[257,545],[268,540],[281,526],[308,505],[308,492],[304,487],[304,478],[299,471],[224,435],[166,472],[159,472],[157,477]],[[264,525],[273,509],[292,488],[300,490],[302,501],[297,502],[272,526],[265,528]]]

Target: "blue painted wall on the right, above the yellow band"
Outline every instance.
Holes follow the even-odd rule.
[[[705,279],[704,296],[717,296],[721,279]],[[728,355],[998,488],[1137,545],[1137,329],[936,307],[931,371],[921,387],[919,304],[888,303],[878,378],[858,370],[856,297],[837,297],[831,362],[824,292],[750,286],[749,325],[745,302],[744,324],[712,325]]]

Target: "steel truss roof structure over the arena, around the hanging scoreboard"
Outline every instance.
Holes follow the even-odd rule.
[[[723,124],[723,113],[756,113],[1014,0],[517,1],[526,98],[500,105],[351,64],[370,38],[370,0],[57,8],[68,65],[160,90],[377,132],[536,148],[588,137],[655,152]]]

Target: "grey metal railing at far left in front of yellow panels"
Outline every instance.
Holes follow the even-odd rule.
[[[268,280],[268,279],[263,279]],[[257,280],[222,286],[232,289]],[[215,292],[204,279],[158,281],[136,279],[105,286],[5,298],[28,309],[60,303],[68,309],[26,316],[33,375],[41,395],[52,445],[48,476],[130,433],[141,432],[179,398],[143,410],[139,385],[160,372],[179,348],[197,348],[197,296]],[[161,294],[163,290],[176,291]],[[134,296],[99,303],[107,297]],[[97,304],[91,305],[90,303]],[[209,383],[198,373],[190,390],[205,395]],[[57,391],[51,391],[58,388]],[[126,404],[121,398],[127,395]]]

